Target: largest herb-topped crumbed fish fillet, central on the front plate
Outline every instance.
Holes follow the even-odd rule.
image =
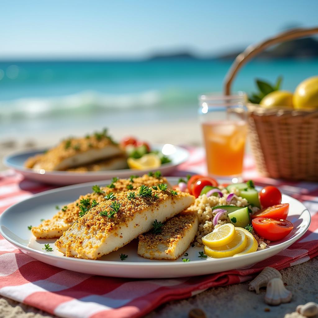
[[[69,257],[97,259],[149,231],[155,220],[164,222],[194,202],[188,193],[157,189],[141,186],[100,203],[64,232],[55,246]]]

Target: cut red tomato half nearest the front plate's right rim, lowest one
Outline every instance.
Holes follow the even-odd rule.
[[[264,217],[252,219],[252,225],[257,235],[270,241],[278,241],[284,238],[294,228],[293,223],[287,220],[274,220]]]

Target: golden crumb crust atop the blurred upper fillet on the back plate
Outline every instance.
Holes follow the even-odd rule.
[[[123,154],[119,146],[106,135],[106,133],[95,133],[84,138],[69,138],[63,140],[56,147],[49,149],[46,153],[28,158],[24,166],[26,168],[36,168],[51,170],[62,170],[57,167],[67,158],[72,158],[78,154],[89,150],[100,150],[105,147],[117,148],[118,154]]]

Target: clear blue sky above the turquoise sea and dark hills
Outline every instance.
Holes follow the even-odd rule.
[[[317,0],[3,1],[0,59],[140,58],[242,48],[318,24]]]

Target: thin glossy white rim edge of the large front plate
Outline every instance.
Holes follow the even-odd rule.
[[[176,180],[178,179],[177,176],[168,176],[167,177],[167,180]],[[109,179],[106,179],[106,180],[101,180],[101,181],[98,181],[100,184],[103,184],[103,183],[109,183],[110,180]],[[81,262],[85,262],[87,264],[90,264],[90,263],[93,263],[93,264],[99,264],[99,265],[102,265],[102,264],[109,264],[109,265],[115,265],[116,266],[133,266],[133,267],[139,267],[139,266],[171,266],[172,264],[182,264],[183,262],[175,262],[176,260],[174,261],[165,261],[163,262],[162,260],[161,261],[157,261],[157,260],[153,260],[152,262],[130,262],[130,261],[125,261],[125,262],[119,262],[119,261],[113,261],[113,260],[99,260],[99,259],[79,259],[79,258],[67,258],[65,257],[64,255],[50,255],[48,253],[45,253],[45,252],[42,252],[42,251],[39,251],[39,250],[36,250],[36,249],[33,249],[29,246],[25,246],[17,241],[15,241],[14,239],[11,239],[10,237],[8,237],[2,230],[2,226],[5,226],[3,225],[2,223],[2,219],[4,218],[4,216],[8,213],[10,213],[10,210],[11,209],[14,209],[17,205],[19,204],[23,204],[24,202],[26,201],[29,201],[29,200],[33,200],[34,198],[36,197],[41,197],[43,195],[50,195],[51,193],[55,193],[55,192],[60,192],[60,191],[64,191],[64,190],[68,190],[69,188],[71,189],[76,189],[76,188],[81,188],[83,186],[90,186],[90,185],[94,185],[96,184],[96,181],[95,182],[85,182],[85,183],[78,183],[78,184],[73,184],[73,185],[67,185],[67,186],[64,186],[64,187],[58,187],[58,188],[55,188],[55,189],[51,189],[51,190],[46,190],[46,191],[42,191],[42,192],[39,192],[39,193],[36,193],[36,194],[33,194],[31,197],[28,197],[20,202],[17,202],[13,205],[11,205],[10,207],[8,207],[7,209],[5,209],[5,211],[3,211],[1,214],[0,214],[0,234],[3,236],[4,239],[6,239],[7,241],[9,241],[11,244],[13,244],[14,246],[18,247],[19,249],[22,249],[22,250],[27,250],[31,253],[36,253],[36,254],[40,254],[42,256],[45,256],[45,257],[48,257],[49,259],[52,259],[52,260],[64,260],[64,261],[67,261],[67,262],[74,262],[74,264],[80,264]],[[289,244],[287,245],[286,247],[284,247],[282,250],[286,249],[288,246],[292,245],[295,241],[297,241],[298,239],[300,239],[307,231],[308,231],[308,228],[310,226],[310,223],[311,223],[311,215],[310,215],[310,212],[308,210],[308,208],[299,200],[297,200],[296,198],[294,197],[291,197],[291,196],[288,196],[287,194],[284,194],[284,196],[286,197],[289,197],[289,198],[292,198],[294,200],[296,200],[298,203],[300,203],[302,206],[303,206],[303,211],[301,212],[300,216],[303,214],[303,213],[307,213],[308,214],[308,217],[309,217],[309,222],[308,222],[308,225],[301,231],[299,232],[298,234],[296,234],[294,237],[290,238],[289,240],[285,241],[285,242],[282,242],[282,243],[279,243],[278,245],[275,245],[273,246],[272,248],[275,248],[277,246],[280,246],[281,244]],[[277,248],[279,249],[279,248]],[[264,249],[264,250],[260,250],[260,251],[256,251],[257,253],[259,253],[259,255],[263,255],[263,254],[266,254],[266,253],[270,253],[269,251],[272,251],[270,248],[269,249]],[[244,254],[244,255],[239,255],[236,257],[236,259],[244,259],[244,258],[249,258],[251,254],[255,255],[256,252],[252,252],[252,253],[248,253],[248,254]],[[262,253],[262,254],[260,254]],[[277,252],[279,253],[279,252]],[[274,254],[276,255],[276,254]],[[219,261],[219,262],[222,262],[222,261],[226,261],[228,259],[232,259],[232,256],[229,256],[229,257],[224,257],[224,258],[220,258],[220,259],[211,259],[211,261]],[[266,259],[266,258],[265,258]],[[76,263],[77,262],[77,263]],[[195,265],[198,265],[200,262],[202,262],[202,260],[191,260],[191,262],[189,262],[188,264],[193,264],[194,266]],[[213,263],[212,263],[213,264]],[[176,265],[175,265],[176,266]]]

